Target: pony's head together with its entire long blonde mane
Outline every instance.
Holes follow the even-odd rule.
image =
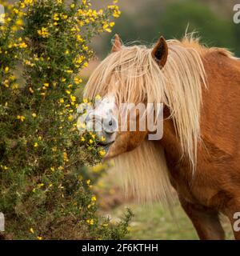
[[[98,114],[90,115],[87,121],[98,122],[101,116],[102,131],[98,134],[106,138],[104,144],[109,148],[106,158],[116,159],[122,166],[120,171],[126,170],[126,185],[130,183],[140,198],[166,196],[166,184],[169,184],[166,162],[159,143],[147,140],[156,132],[148,129],[148,116],[147,121],[143,118],[142,129],[142,117],[146,116],[147,107],[143,112],[139,109],[134,111],[133,130],[130,129],[131,107],[128,108],[130,111],[122,111],[122,104],[151,104],[155,124],[157,106],[162,103],[170,113],[182,154],[189,158],[194,170],[202,83],[205,83],[201,51],[203,48],[192,38],[184,38],[182,42],[160,38],[154,47],[147,48],[123,46],[116,35],[111,53],[94,70],[86,84],[86,98],[95,98],[98,94],[102,97],[95,111]],[[122,126],[125,129],[121,129]]]

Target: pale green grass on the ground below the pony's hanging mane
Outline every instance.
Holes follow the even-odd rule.
[[[142,206],[135,203],[124,204],[112,211],[112,217],[120,216],[126,206],[134,212],[134,218],[130,224],[130,234],[127,235],[126,239],[198,239],[190,219],[187,218],[178,203],[174,206],[174,214],[176,215],[174,218],[169,210],[159,203],[154,203],[152,206]],[[222,218],[222,224],[226,230],[226,239],[233,239],[230,223],[226,218]]]

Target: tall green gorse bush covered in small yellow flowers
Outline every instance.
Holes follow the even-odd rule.
[[[115,3],[92,10],[90,1],[22,0],[0,26],[0,212],[6,238],[118,239],[118,224],[98,215],[93,193],[105,154],[94,134],[79,135],[74,114],[79,71],[93,51],[91,38],[114,26]],[[86,100],[85,100],[86,101]]]

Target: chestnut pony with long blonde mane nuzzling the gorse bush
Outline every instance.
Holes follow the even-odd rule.
[[[219,214],[232,226],[240,212],[240,62],[228,50],[206,48],[197,39],[160,38],[153,48],[123,46],[94,70],[85,96],[119,102],[162,102],[163,136],[118,131],[106,159],[114,158],[126,188],[139,198],[178,193],[199,238],[223,239]],[[114,138],[114,139],[113,139]],[[234,230],[240,239],[240,231]]]

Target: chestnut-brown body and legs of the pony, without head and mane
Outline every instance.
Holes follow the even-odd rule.
[[[202,91],[202,142],[194,176],[187,161],[178,161],[180,146],[170,120],[164,122],[160,143],[171,182],[199,237],[217,239],[224,238],[218,213],[233,225],[234,213],[240,211],[240,62],[221,50],[202,60],[208,89]],[[234,234],[240,239],[239,232]]]

